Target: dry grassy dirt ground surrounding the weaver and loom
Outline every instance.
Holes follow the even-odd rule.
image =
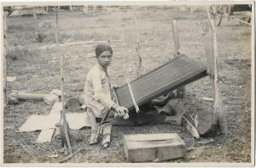
[[[9,18],[7,73],[17,79],[8,82],[7,93],[11,90],[49,93],[53,89],[60,89],[59,59],[62,54],[65,57],[65,98],[81,94],[86,74],[96,61],[93,58],[96,43],[85,43],[88,41],[110,40],[113,63],[109,67],[109,75],[114,84],[121,86],[125,84],[125,74],[130,68],[131,80],[136,78],[137,35],[140,37],[143,59],[142,73],[173,59],[172,19],[177,20],[183,53],[207,64],[201,36],[201,21],[207,20],[205,8],[198,8],[194,13],[176,7],[137,8],[136,13],[129,9],[104,11],[102,14],[61,12],[59,19],[60,43],[78,43],[60,47],[57,53],[55,47],[44,48],[55,45],[54,13],[38,15],[38,33],[45,35],[43,42],[36,42],[32,16]],[[74,151],[83,149],[66,162],[128,162],[124,154],[124,134],[173,131],[177,131],[186,147],[192,149],[185,158],[165,162],[251,162],[251,28],[225,18],[217,28],[217,37],[221,95],[229,129],[227,135],[217,135],[212,137],[212,143],[201,144],[211,136],[195,139],[184,126],[114,126],[112,143],[109,148],[103,149],[100,144],[87,144],[90,128],[83,128],[71,131]],[[199,109],[199,105],[205,109],[212,108],[211,103],[200,99],[212,97],[208,77],[186,88],[188,98],[180,101],[187,112],[195,116],[199,110],[204,110]],[[3,111],[4,163],[56,163],[67,157],[61,152],[60,139],[54,138],[51,143],[36,143],[39,132],[17,132],[30,115],[48,115],[51,108],[44,102],[34,101],[7,105]]]

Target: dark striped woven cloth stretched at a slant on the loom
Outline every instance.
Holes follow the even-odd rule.
[[[182,54],[131,81],[131,90],[136,103],[141,105],[204,76],[207,76],[207,67]],[[119,87],[116,94],[119,105],[134,108],[127,84]]]

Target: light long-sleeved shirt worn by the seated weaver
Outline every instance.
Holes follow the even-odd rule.
[[[99,63],[90,69],[84,86],[84,104],[93,110],[97,118],[102,118],[103,109],[111,109],[115,103],[111,98],[108,72]]]

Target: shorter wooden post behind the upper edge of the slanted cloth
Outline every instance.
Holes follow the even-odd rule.
[[[173,37],[173,42],[174,42],[174,58],[178,56],[179,49],[180,49],[180,44],[179,44],[179,39],[178,39],[178,33],[177,33],[177,24],[176,20],[172,20],[171,22],[172,25],[172,37]],[[186,89],[185,87],[179,87],[177,88],[177,96],[180,98],[186,98]]]

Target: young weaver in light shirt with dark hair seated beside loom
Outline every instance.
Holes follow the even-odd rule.
[[[96,118],[102,119],[103,115],[113,109],[117,115],[125,115],[128,109],[119,106],[111,96],[111,85],[108,77],[108,65],[111,63],[113,50],[108,44],[96,46],[96,64],[86,76],[84,87],[84,104],[91,123],[90,144],[97,143]]]

